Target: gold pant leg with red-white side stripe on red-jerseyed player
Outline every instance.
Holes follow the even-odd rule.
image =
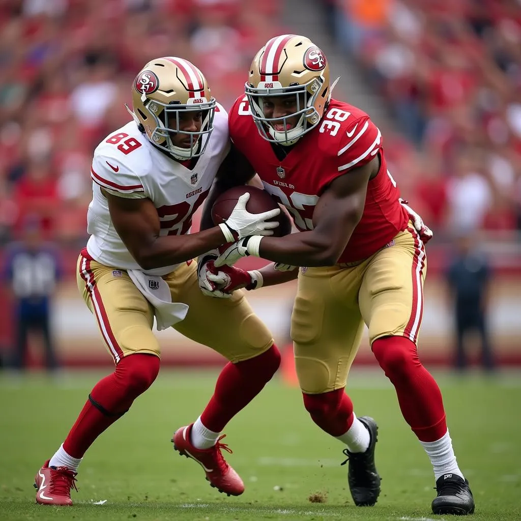
[[[371,259],[359,295],[369,328],[369,341],[404,336],[417,341],[423,314],[423,282],[427,270],[425,246],[410,226]]]

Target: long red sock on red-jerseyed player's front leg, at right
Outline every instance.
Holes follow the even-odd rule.
[[[441,391],[421,365],[416,345],[405,337],[383,337],[371,346],[391,380],[405,421],[420,441],[439,440],[447,431]]]

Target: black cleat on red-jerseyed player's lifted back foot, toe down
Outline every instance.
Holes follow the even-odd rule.
[[[380,481],[375,465],[375,446],[378,440],[378,426],[369,416],[358,418],[369,431],[370,441],[365,452],[343,453],[348,457],[342,465],[349,462],[348,483],[351,497],[356,506],[373,506],[380,495]]]

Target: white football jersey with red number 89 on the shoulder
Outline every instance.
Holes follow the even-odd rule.
[[[230,150],[228,114],[219,104],[209,140],[193,170],[154,147],[135,121],[109,134],[96,147],[91,169],[93,197],[87,214],[87,251],[93,259],[119,269],[141,269],[114,228],[101,188],[120,197],[148,197],[161,221],[160,235],[190,232],[192,216],[208,195]],[[146,273],[166,275],[177,266]]]

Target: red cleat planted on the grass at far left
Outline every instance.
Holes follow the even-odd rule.
[[[71,489],[76,488],[76,472],[67,467],[49,467],[47,460],[34,478],[36,503],[41,505],[71,506]]]

